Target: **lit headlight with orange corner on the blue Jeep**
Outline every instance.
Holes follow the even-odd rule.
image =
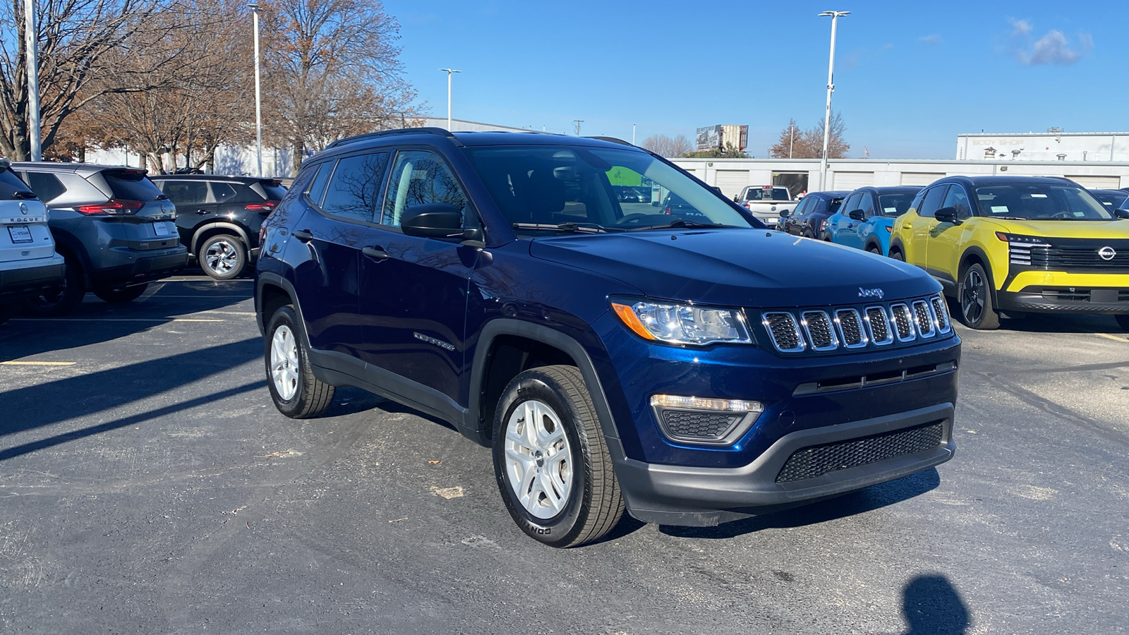
[[[637,336],[669,343],[752,343],[739,308],[646,301],[612,302],[620,320]]]

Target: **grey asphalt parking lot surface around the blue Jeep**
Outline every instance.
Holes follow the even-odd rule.
[[[0,632],[1124,633],[1129,336],[961,330],[957,456],[712,529],[530,540],[490,453],[268,395],[252,281],[0,327]]]

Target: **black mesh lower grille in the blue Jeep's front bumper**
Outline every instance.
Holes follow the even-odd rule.
[[[804,447],[788,458],[776,481],[793,482],[816,478],[835,470],[925,452],[940,445],[943,435],[942,421],[934,421],[914,428]]]

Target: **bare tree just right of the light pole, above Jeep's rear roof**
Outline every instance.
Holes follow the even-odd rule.
[[[404,125],[415,93],[401,78],[400,25],[378,0],[263,0],[264,125],[294,150]]]

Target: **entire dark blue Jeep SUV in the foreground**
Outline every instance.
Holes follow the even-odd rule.
[[[622,141],[352,137],[307,159],[261,244],[275,407],[315,417],[351,385],[449,421],[548,545],[624,510],[712,525],[954,452],[961,342],[936,281],[768,230]]]

